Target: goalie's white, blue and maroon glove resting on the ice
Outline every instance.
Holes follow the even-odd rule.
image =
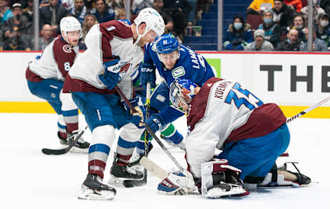
[[[163,179],[157,191],[166,195],[186,195],[195,190],[195,181],[188,170],[175,171]]]

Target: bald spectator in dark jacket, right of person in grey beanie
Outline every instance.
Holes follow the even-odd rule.
[[[287,33],[287,39],[279,43],[275,51],[299,51],[300,41],[298,39],[298,30],[292,28]]]

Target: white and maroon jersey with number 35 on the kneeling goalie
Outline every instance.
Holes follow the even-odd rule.
[[[263,104],[236,81],[210,78],[192,99],[188,113],[186,159],[190,170],[200,177],[200,166],[213,158],[214,148],[261,137],[285,120],[276,104]]]

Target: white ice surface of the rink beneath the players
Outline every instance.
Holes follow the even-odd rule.
[[[291,143],[288,152],[298,160],[301,173],[311,177],[310,186],[258,189],[242,198],[204,199],[200,195],[158,195],[159,179],[148,175],[148,184],[137,188],[117,188],[112,201],[78,200],[87,175],[87,154],[67,153],[49,156],[41,148],[58,148],[55,114],[1,113],[0,208],[330,208],[330,168],[328,119],[298,118],[289,123]],[[183,119],[175,122],[186,132]],[[80,128],[85,126],[80,115]],[[85,139],[90,140],[87,131]],[[203,140],[203,139],[201,139]],[[149,157],[167,170],[176,170],[157,145]],[[170,152],[186,166],[184,153]],[[109,157],[104,180],[109,178]]]

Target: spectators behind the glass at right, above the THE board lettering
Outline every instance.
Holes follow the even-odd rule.
[[[329,51],[330,0],[314,0],[313,9],[313,50]],[[232,19],[224,50],[307,51],[307,0],[253,0],[246,12],[247,21]]]

